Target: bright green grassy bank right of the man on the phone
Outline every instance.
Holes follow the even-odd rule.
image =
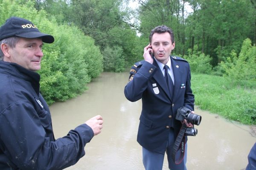
[[[226,77],[192,74],[195,105],[247,125],[256,125],[256,85],[239,86]],[[247,88],[246,87],[249,87]]]

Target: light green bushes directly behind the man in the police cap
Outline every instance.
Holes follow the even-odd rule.
[[[86,89],[91,78],[103,71],[102,54],[91,37],[85,36],[75,26],[58,25],[54,17],[47,17],[44,10],[37,11],[34,1],[19,4],[17,1],[0,0],[0,24],[11,16],[31,20],[42,32],[52,34],[55,42],[44,44],[41,63],[41,93],[49,104],[65,101]],[[51,20],[47,19],[51,18]]]

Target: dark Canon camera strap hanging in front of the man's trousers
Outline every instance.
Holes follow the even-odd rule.
[[[184,154],[185,154],[185,137],[184,137],[184,133],[186,131],[186,124],[183,123],[183,125],[180,128],[180,132],[175,140],[175,143],[173,145],[173,149],[172,149],[172,160],[175,162],[175,164],[180,164],[180,162],[183,160],[184,158]],[[175,156],[177,153],[177,150],[180,148],[180,158],[176,161],[175,160]]]

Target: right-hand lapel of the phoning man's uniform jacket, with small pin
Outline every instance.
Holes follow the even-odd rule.
[[[178,62],[171,58],[171,64],[172,64],[172,71],[173,71],[173,75],[174,75],[174,92],[173,92],[173,100],[175,99],[175,97],[177,96],[178,91],[180,90],[180,85],[181,85],[181,79],[180,77],[182,77],[183,72],[181,71],[180,67],[181,65],[178,64]]]

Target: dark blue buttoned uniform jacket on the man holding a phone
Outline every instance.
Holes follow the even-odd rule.
[[[170,96],[163,73],[153,64],[140,61],[130,71],[125,97],[135,102],[142,99],[142,111],[137,141],[147,150],[165,153],[169,128],[177,136],[181,122],[175,119],[177,109],[186,106],[194,110],[194,95],[190,88],[189,63],[180,57],[170,57],[175,77],[174,95]]]

